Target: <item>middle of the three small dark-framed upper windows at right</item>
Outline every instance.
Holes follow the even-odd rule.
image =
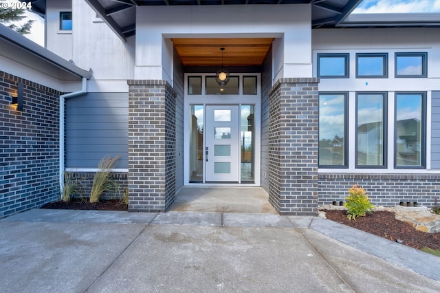
[[[356,54],[356,77],[387,78],[388,54],[358,53]]]

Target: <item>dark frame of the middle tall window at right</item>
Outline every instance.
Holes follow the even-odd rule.
[[[382,104],[384,105],[382,111],[382,129],[383,133],[383,146],[382,146],[382,166],[375,165],[359,165],[358,164],[358,98],[362,94],[382,95]],[[355,169],[388,169],[388,92],[387,91],[356,91],[355,96]]]

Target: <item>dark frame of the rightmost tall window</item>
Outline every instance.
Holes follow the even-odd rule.
[[[421,95],[421,144],[420,166],[397,166],[397,96],[401,94],[420,94]],[[394,94],[394,169],[426,169],[426,91],[396,91]]]

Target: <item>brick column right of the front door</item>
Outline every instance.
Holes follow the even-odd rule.
[[[285,215],[318,213],[318,78],[270,89],[269,201]]]

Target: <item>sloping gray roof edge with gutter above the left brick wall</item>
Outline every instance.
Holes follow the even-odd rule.
[[[30,41],[21,34],[14,32],[14,30],[11,30],[10,28],[1,24],[0,24],[0,39],[3,39],[8,43],[17,46],[22,50],[25,50],[30,54],[37,56],[38,58],[41,58],[47,63],[51,63],[52,65],[55,65],[56,67],[65,70],[65,72],[74,74],[74,76],[78,76],[79,78],[87,78],[87,79],[91,78],[91,74],[92,74],[91,70],[87,71],[85,69],[81,69],[80,67],[61,58],[60,56],[50,52],[44,47],[41,47],[41,45],[38,45],[33,41]]]

